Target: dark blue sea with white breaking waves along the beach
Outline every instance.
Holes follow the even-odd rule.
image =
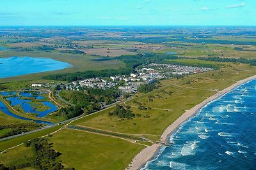
[[[256,80],[202,108],[143,169],[255,169]]]

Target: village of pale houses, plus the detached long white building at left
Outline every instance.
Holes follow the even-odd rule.
[[[110,76],[108,78],[88,78],[72,83],[61,83],[63,90],[86,90],[87,88],[109,89],[118,87],[122,93],[135,93],[138,91],[141,84],[150,84],[156,80],[170,78],[172,76],[182,76],[186,74],[202,73],[211,71],[212,68],[194,67],[194,66],[179,66],[173,64],[147,64],[140,69],[136,69],[135,73],[129,76]],[[33,87],[42,87],[42,84],[33,84]],[[49,85],[43,85],[49,87]]]

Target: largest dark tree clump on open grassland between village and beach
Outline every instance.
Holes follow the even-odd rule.
[[[120,118],[132,118],[134,117],[134,113],[131,111],[131,106],[126,105],[121,106],[119,104],[116,104],[115,110],[109,111],[108,113],[109,116],[118,116]]]

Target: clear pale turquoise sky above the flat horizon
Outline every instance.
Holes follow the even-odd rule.
[[[0,25],[256,25],[256,1],[0,0]]]

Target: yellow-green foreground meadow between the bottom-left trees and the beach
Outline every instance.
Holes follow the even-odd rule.
[[[54,149],[62,153],[61,163],[78,170],[125,169],[144,148],[124,139],[71,129],[64,129],[49,139]]]

